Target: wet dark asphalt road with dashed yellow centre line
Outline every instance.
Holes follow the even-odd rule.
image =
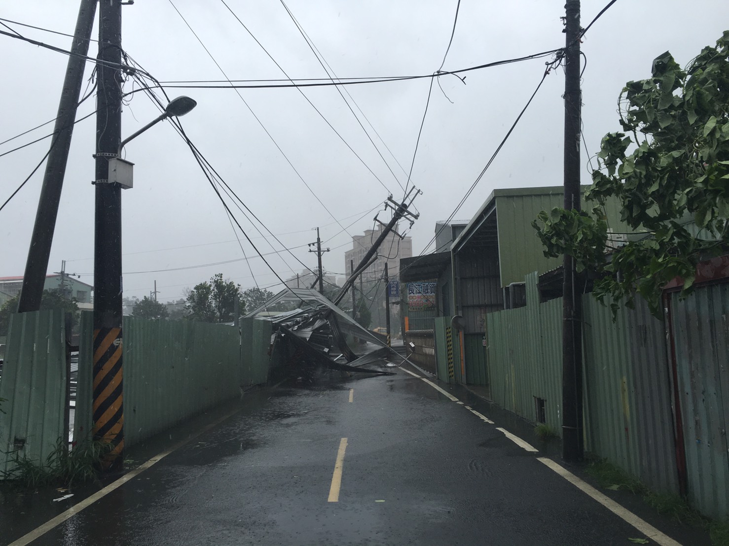
[[[243,411],[33,544],[631,545],[642,537],[499,423],[394,370],[254,393]],[[327,502],[342,438],[339,499]],[[33,529],[28,518],[6,518],[0,543]]]

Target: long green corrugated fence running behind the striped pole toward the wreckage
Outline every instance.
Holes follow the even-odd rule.
[[[76,438],[91,427],[90,313],[82,314],[81,328]],[[124,317],[125,445],[265,383],[270,323],[241,331],[242,342],[233,326]]]

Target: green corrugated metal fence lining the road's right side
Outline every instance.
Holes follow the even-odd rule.
[[[561,298],[539,301],[537,276],[526,277],[527,306],[488,315],[488,369],[494,402],[532,422],[534,398],[561,432]],[[637,300],[612,312],[592,296],[583,306],[585,447],[651,488],[679,493],[666,325]],[[729,513],[729,284],[672,296],[687,486],[693,505]]]

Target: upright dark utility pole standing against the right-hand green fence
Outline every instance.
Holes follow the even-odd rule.
[[[566,0],[564,50],[564,208],[580,210],[580,0]],[[564,255],[562,304],[562,458],[584,456],[582,434],[582,294],[574,258]]]

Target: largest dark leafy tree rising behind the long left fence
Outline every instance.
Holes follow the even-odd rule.
[[[223,280],[222,273],[215,274],[210,282],[200,282],[187,293],[187,318],[201,323],[230,323],[234,318],[235,298],[238,298],[241,314],[246,302],[241,297],[241,286]]]

